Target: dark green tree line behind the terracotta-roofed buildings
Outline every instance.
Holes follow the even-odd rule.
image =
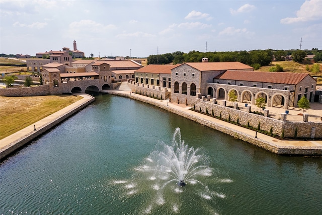
[[[276,61],[283,61],[292,57],[295,62],[304,61],[307,54],[315,54],[314,60],[322,60],[322,52],[317,49],[309,50],[253,50],[253,51],[233,51],[233,52],[199,52],[190,51],[184,53],[176,51],[173,53],[149,55],[147,57],[147,64],[169,64],[169,63],[183,63],[183,62],[201,62],[202,58],[207,57],[209,62],[234,62],[238,61],[258,69],[261,66],[271,64],[275,58]]]

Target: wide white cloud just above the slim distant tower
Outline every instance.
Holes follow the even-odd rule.
[[[73,34],[84,33],[84,29],[90,33],[105,33],[107,30],[116,29],[116,26],[112,24],[103,25],[92,20],[81,20],[69,24],[69,31]]]

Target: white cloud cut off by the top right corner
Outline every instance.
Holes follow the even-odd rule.
[[[322,1],[310,0],[303,3],[300,10],[296,12],[296,17],[287,17],[281,19],[281,23],[291,24],[319,19],[322,19]]]

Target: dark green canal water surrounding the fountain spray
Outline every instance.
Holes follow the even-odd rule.
[[[162,190],[142,166],[176,128],[204,185]],[[162,197],[160,197],[162,193]],[[0,164],[0,214],[322,214],[322,159],[278,156],[163,109],[99,95]]]

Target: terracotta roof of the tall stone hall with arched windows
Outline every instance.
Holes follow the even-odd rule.
[[[198,69],[199,71],[254,69],[252,66],[241,62],[192,62],[186,64]]]

